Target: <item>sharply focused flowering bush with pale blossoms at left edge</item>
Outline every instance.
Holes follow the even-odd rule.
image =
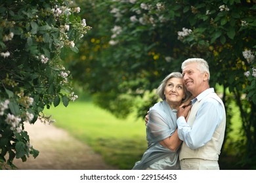
[[[14,168],[39,152],[30,144],[24,123],[34,124],[45,107],[74,101],[70,72],[62,52],[77,52],[77,39],[91,27],[70,1],[0,1],[0,167]]]

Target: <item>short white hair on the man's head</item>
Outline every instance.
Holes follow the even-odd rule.
[[[208,65],[207,61],[205,61],[202,58],[186,59],[185,61],[182,62],[182,65],[181,65],[182,71],[183,71],[184,67],[186,67],[186,65],[188,65],[188,63],[198,63],[197,68],[200,71],[200,73],[208,73],[208,75],[209,75],[208,80],[210,80],[210,71],[209,71],[209,65]]]

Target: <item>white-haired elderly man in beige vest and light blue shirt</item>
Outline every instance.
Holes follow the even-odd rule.
[[[219,169],[226,127],[223,101],[209,87],[207,61],[186,59],[181,69],[186,89],[194,96],[191,110],[181,107],[177,111],[178,135],[183,141],[179,154],[181,169]]]

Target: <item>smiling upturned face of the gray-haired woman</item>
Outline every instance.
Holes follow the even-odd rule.
[[[179,108],[185,91],[182,78],[170,78],[165,85],[164,95],[171,108]]]

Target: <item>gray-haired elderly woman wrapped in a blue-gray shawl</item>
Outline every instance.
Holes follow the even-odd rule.
[[[184,87],[181,73],[171,73],[164,78],[157,90],[163,101],[156,103],[149,111],[146,125],[148,148],[142,159],[135,163],[134,170],[181,169],[177,134],[177,109],[188,101],[190,93]]]

